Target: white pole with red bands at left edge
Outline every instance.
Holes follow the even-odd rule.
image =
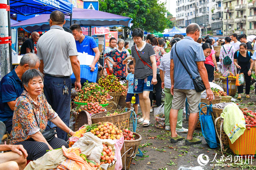
[[[7,0],[0,0],[0,4],[7,4]],[[6,9],[0,9],[0,37],[8,36],[8,13]],[[8,41],[8,39],[4,41]],[[0,79],[10,72],[9,47],[9,44],[0,44]]]

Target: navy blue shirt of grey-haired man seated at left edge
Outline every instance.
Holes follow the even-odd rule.
[[[6,121],[13,116],[7,102],[16,100],[23,92],[23,86],[15,70],[6,74],[0,81],[0,120]]]

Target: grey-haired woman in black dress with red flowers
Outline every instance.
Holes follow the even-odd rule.
[[[106,53],[104,57],[113,64],[113,74],[117,76],[117,78],[124,80],[128,75],[127,65],[122,64],[123,60],[127,57],[126,51],[123,50],[124,41],[122,39],[118,40],[117,45],[117,49]],[[109,57],[112,57],[114,61],[111,61]]]

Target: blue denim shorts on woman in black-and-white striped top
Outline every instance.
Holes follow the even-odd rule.
[[[139,94],[143,91],[153,91],[153,84],[151,84],[153,76],[148,76],[142,79],[133,80],[133,93]]]

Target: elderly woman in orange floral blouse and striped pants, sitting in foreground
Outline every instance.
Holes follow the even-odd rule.
[[[46,101],[42,93],[43,74],[37,69],[30,69],[22,75],[21,81],[25,90],[14,108],[10,144],[23,145],[29,160],[40,158],[46,150],[61,148],[63,145],[68,147],[62,139],[54,137],[46,141],[42,135],[48,120],[70,135],[74,133]]]

